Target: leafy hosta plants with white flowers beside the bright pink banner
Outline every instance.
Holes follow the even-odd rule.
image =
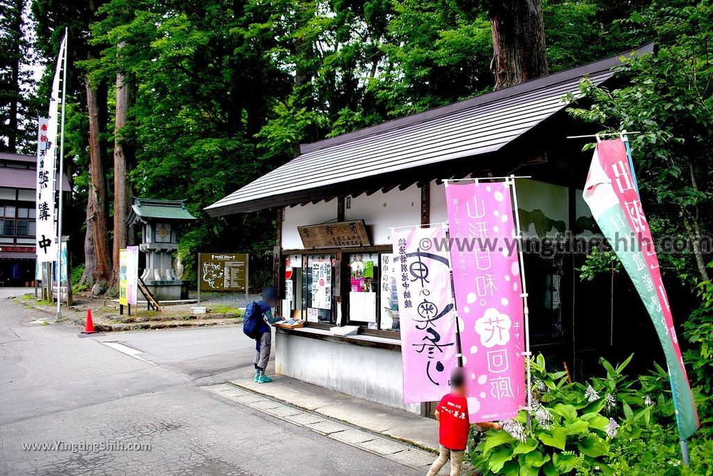
[[[621,432],[629,437],[633,427],[648,425],[669,409],[655,388],[659,375],[627,380],[622,371],[631,359],[616,367],[602,359],[606,377],[573,383],[565,372],[548,373],[538,355],[531,362],[529,427],[528,412],[520,410],[501,422],[503,430],[488,431],[470,452],[473,466],[483,475],[615,474],[610,452]],[[656,393],[660,397],[652,398]]]

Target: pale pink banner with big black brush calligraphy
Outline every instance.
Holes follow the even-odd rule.
[[[456,313],[444,228],[392,231],[401,318],[404,403],[434,402],[448,393],[458,365]]]

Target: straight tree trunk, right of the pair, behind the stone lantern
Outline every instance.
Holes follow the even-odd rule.
[[[123,74],[116,75],[116,122],[114,126],[114,246],[113,257],[114,273],[112,286],[119,282],[119,250],[126,248],[128,227],[125,218],[131,206],[131,192],[126,178],[128,146],[121,135],[122,128],[126,125],[130,103],[130,81]]]

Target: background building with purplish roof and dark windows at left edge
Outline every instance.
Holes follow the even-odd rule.
[[[35,280],[36,156],[0,153],[0,285]],[[69,181],[63,177],[63,191]],[[55,181],[56,183],[56,181]]]

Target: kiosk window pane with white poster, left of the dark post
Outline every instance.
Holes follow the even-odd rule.
[[[302,260],[304,276],[303,308],[307,321],[334,324],[334,255],[307,255]]]

